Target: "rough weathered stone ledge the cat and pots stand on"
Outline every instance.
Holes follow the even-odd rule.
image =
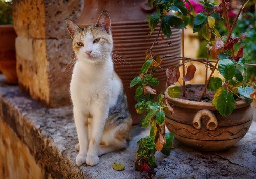
[[[134,170],[134,161],[136,142],[147,135],[147,129],[133,127],[129,148],[101,156],[97,166],[77,167],[74,146],[78,140],[72,108],[47,109],[4,81],[0,75],[0,118],[28,146],[46,178],[146,178]],[[175,141],[169,157],[156,154],[156,178],[255,178],[255,136],[253,121],[247,135],[222,152],[198,152]],[[115,161],[124,163],[126,169],[113,170]]]

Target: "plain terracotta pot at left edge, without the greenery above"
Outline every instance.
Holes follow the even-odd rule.
[[[12,25],[0,25],[0,71],[9,84],[17,84],[15,38]]]

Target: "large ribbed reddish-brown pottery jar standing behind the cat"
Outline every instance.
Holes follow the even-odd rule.
[[[138,124],[140,116],[134,108],[136,87],[130,88],[129,84],[135,76],[138,76],[140,68],[145,61],[145,52],[152,46],[158,35],[156,28],[152,35],[148,35],[150,29],[146,17],[154,10],[147,5],[147,1],[84,1],[84,9],[78,21],[81,27],[95,24],[102,11],[108,11],[111,18],[111,30],[114,40],[113,55],[115,71],[122,79],[129,110],[133,118],[133,124]],[[161,40],[160,40],[161,41]],[[171,42],[170,46],[167,43]],[[180,31],[172,29],[172,38],[165,38],[161,44],[154,46],[154,54],[180,55]],[[164,58],[162,69],[156,77],[160,80],[158,91],[165,88],[165,69],[179,63],[178,58]]]

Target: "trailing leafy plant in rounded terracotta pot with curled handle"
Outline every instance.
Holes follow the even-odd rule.
[[[142,127],[150,127],[150,134],[138,141],[135,169],[146,171],[150,177],[155,173],[155,152],[161,151],[169,155],[174,136],[197,149],[223,150],[237,143],[252,122],[253,110],[250,103],[255,99],[256,92],[255,84],[249,80],[246,71],[248,65],[255,64],[246,63],[240,39],[232,36],[246,1],[237,7],[239,11],[232,25],[227,14],[230,9],[228,1],[222,0],[217,5],[208,0],[200,3],[203,5],[203,11],[196,13],[188,0],[148,1],[151,7],[157,9],[155,14],[148,17],[150,29],[154,31],[157,26],[160,26],[160,29],[152,47],[146,52],[139,76],[131,81],[130,87],[137,85],[135,108],[138,113],[144,115],[141,118]],[[169,15],[169,11],[175,11],[174,15]],[[227,35],[219,34],[215,26],[217,20],[224,21],[228,29]],[[181,63],[166,69],[166,89],[158,92],[154,87],[157,83],[152,84],[151,81],[157,81],[154,74],[161,68],[162,60],[169,55],[156,54],[154,44],[171,36],[170,27],[184,29],[187,25],[193,26],[193,31],[208,41],[207,59],[184,57],[182,42],[182,56],[179,57]],[[211,60],[210,55],[213,58]],[[192,64],[194,62],[203,63],[206,68],[206,82],[196,88],[195,85],[186,85],[196,73],[197,69]],[[208,69],[211,70],[210,75],[207,74]],[[181,76],[180,70],[183,81],[177,86]],[[222,77],[213,76],[215,71]],[[194,93],[191,95],[191,92],[197,90],[200,92],[198,97]],[[174,135],[165,133],[165,126]]]

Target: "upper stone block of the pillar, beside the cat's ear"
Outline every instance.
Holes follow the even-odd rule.
[[[13,4],[17,35],[30,38],[69,38],[65,18],[77,21],[80,14],[80,0],[17,0]]]

